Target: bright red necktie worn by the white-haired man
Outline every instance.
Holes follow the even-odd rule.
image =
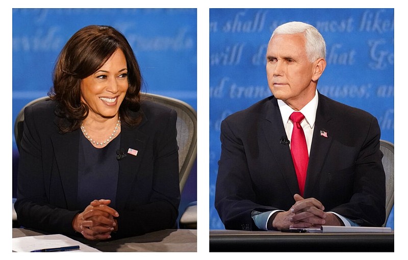
[[[297,182],[299,184],[300,195],[303,196],[306,173],[308,171],[309,154],[303,128],[300,122],[304,116],[300,112],[293,112],[289,119],[293,122],[292,138],[290,140],[290,152],[292,153],[293,164],[295,165]]]

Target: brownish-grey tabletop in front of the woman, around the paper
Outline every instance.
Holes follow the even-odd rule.
[[[44,233],[30,229],[13,228],[13,238],[40,236]],[[196,229],[165,229],[141,236],[112,241],[75,240],[103,252],[196,252]]]

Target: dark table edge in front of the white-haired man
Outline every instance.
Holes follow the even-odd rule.
[[[210,252],[394,252],[391,233],[210,230]]]

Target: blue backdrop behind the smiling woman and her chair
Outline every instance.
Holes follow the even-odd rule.
[[[13,124],[26,103],[47,94],[59,52],[89,24],[111,25],[125,35],[142,71],[142,91],[181,99],[197,109],[196,9],[13,9],[12,19]],[[13,171],[17,159],[13,133]],[[193,167],[181,211],[197,200],[196,178]]]

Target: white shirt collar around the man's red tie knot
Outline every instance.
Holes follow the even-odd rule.
[[[315,93],[315,96],[313,97],[312,100],[310,100],[309,103],[307,103],[306,106],[304,106],[299,112],[301,112],[304,115],[304,118],[308,122],[311,128],[314,127],[315,125],[315,120],[316,120],[316,111],[317,111],[317,104],[319,102],[319,97],[317,95],[317,90]],[[286,103],[278,99],[277,104],[279,106],[279,110],[281,110],[281,116],[284,125],[288,123],[290,115],[295,112],[291,107],[286,105]]]

